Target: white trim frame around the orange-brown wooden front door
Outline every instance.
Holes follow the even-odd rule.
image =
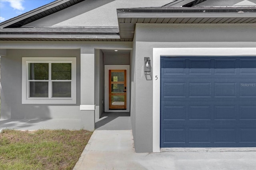
[[[108,70],[126,70],[126,110],[109,110],[108,109]],[[105,65],[104,70],[104,76],[105,76],[105,94],[104,94],[104,100],[105,100],[105,110],[104,112],[130,112],[130,65]]]

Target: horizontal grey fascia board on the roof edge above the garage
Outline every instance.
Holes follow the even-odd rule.
[[[254,17],[256,13],[118,13],[118,18],[218,18],[218,17]]]

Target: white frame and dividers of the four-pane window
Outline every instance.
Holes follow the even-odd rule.
[[[52,82],[48,80],[48,97],[29,97],[28,64],[29,63],[71,63],[71,97],[52,97]],[[49,74],[51,67],[49,67]],[[40,81],[40,80],[39,80]],[[67,82],[67,80],[57,80]],[[22,104],[76,104],[76,57],[22,57]]]

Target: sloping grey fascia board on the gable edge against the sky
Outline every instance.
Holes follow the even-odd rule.
[[[14,24],[16,22],[19,22],[21,20],[24,20],[24,19],[30,17],[30,16],[39,14],[40,12],[44,12],[46,10],[49,10],[49,9],[54,8],[56,6],[59,6],[60,4],[63,4],[63,3],[68,2],[68,1],[70,1],[70,0],[56,0],[56,1],[52,2],[52,3],[50,3],[50,4],[46,4],[46,5],[42,6],[42,7],[36,8],[36,9],[34,9],[32,11],[26,12],[25,14],[19,15],[17,17],[11,18],[10,20],[2,22],[0,24],[0,28],[4,28],[6,26],[12,25],[12,24]]]

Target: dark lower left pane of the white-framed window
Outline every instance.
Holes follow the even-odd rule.
[[[48,82],[29,82],[30,97],[48,97]]]

